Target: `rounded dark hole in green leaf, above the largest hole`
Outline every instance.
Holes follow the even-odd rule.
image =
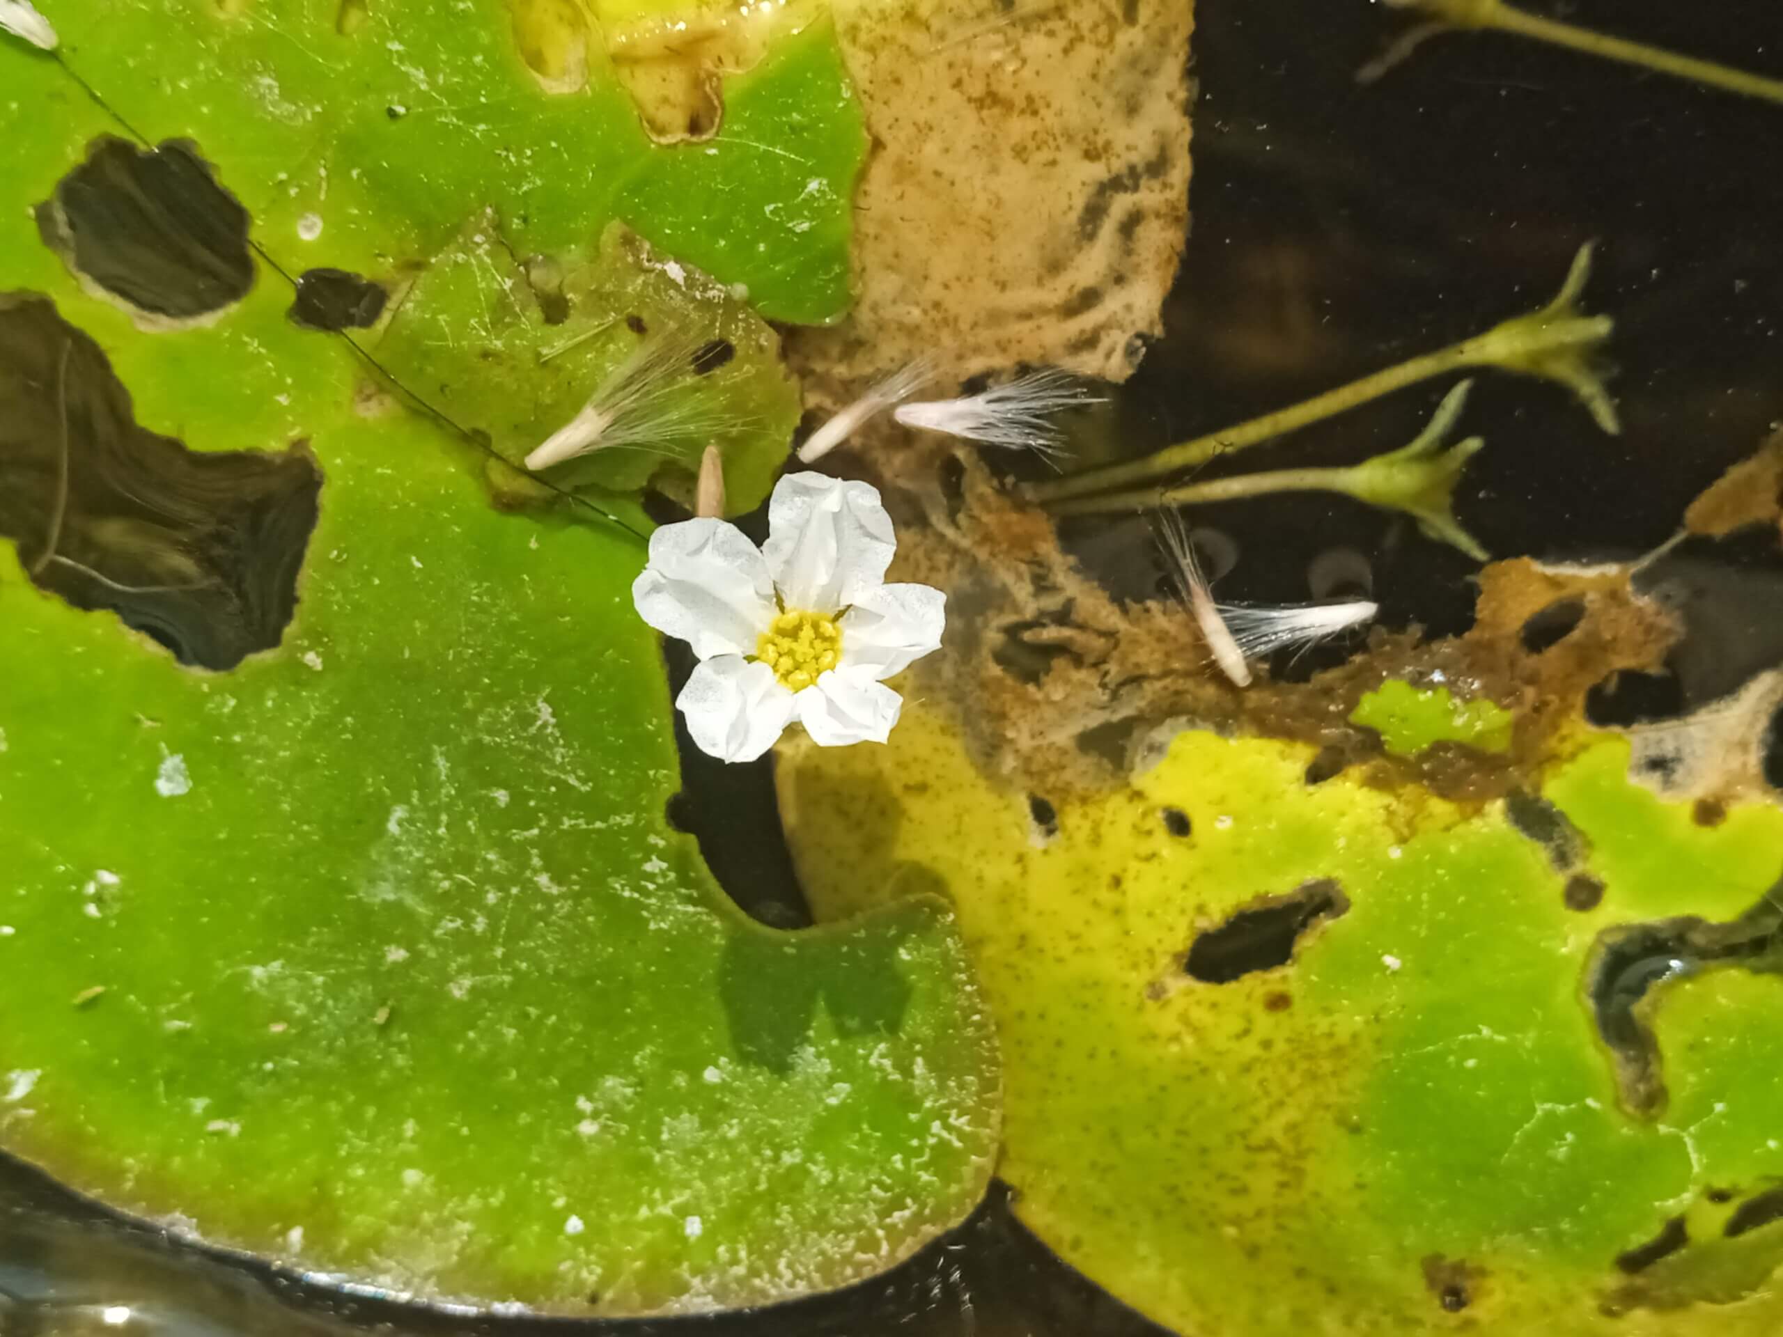
[[[184,139],[94,141],[37,205],[37,232],[84,287],[144,328],[214,319],[253,287],[248,210]]]

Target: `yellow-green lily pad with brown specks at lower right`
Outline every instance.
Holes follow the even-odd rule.
[[[1642,1251],[1783,1175],[1769,957],[1628,961],[1669,1087],[1649,1112],[1594,1005],[1624,977],[1594,972],[1635,925],[1762,907],[1783,811],[1705,827],[1628,781],[1624,740],[1555,756],[1519,802],[1564,856],[1503,800],[1312,784],[1312,747],[1202,731],[1045,824],[934,708],[779,775],[820,916],[949,891],[1002,1043],[1016,1210],[1157,1321],[1608,1333],[1690,1308],[1665,1332],[1771,1332],[1783,1230]]]

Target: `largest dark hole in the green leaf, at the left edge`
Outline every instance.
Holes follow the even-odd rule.
[[[301,444],[189,451],[137,426],[98,344],[46,298],[0,296],[0,535],[39,588],[234,668],[296,610],[321,481]]]

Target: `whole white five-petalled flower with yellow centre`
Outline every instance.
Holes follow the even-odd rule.
[[[795,718],[824,747],[890,736],[884,679],[941,647],[947,603],[884,583],[895,547],[879,492],[826,474],[781,478],[761,549],[717,519],[651,535],[631,599],[701,660],[676,706],[703,752],[754,761]]]

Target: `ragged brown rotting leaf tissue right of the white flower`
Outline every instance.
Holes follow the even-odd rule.
[[[1259,674],[1239,690],[1211,670],[1187,611],[1161,599],[1111,599],[1061,553],[1050,519],[974,456],[949,456],[893,426],[868,428],[865,440],[858,458],[881,465],[888,504],[902,512],[897,578],[938,585],[952,599],[950,654],[916,667],[918,692],[954,702],[986,770],[1031,792],[1105,790],[1143,765],[1150,738],[1196,726],[1316,747],[1309,783],[1353,772],[1464,804],[1535,793],[1590,686],[1623,668],[1656,667],[1678,635],[1672,615],[1639,595],[1624,567],[1548,569],[1516,558],[1480,572],[1476,622],[1462,636],[1426,642],[1376,629],[1364,652],[1309,683]],[[943,458],[952,496],[941,488]],[[1578,603],[1578,620],[1532,652],[1523,627],[1565,601]],[[1514,720],[1508,751],[1437,743],[1410,758],[1387,754],[1350,715],[1391,679],[1441,681],[1505,708]]]

